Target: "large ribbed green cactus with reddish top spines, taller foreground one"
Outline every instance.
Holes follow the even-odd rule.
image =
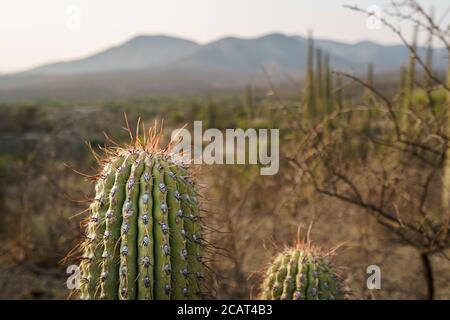
[[[106,149],[81,245],[81,299],[199,299],[205,267],[195,186],[154,133]]]

